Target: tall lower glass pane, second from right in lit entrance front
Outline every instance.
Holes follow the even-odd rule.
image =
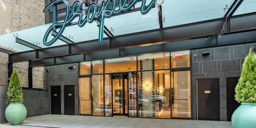
[[[170,71],[154,73],[155,118],[170,118]]]

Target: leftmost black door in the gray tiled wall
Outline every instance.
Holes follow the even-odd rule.
[[[61,86],[51,86],[51,114],[61,114]]]

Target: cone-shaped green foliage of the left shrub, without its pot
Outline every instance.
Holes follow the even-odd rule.
[[[19,74],[17,74],[16,70],[14,70],[10,78],[6,102],[7,104],[10,102],[23,103],[23,100],[21,79],[19,79]]]

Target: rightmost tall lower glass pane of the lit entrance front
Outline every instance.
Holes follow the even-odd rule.
[[[190,71],[172,72],[172,117],[190,116]]]

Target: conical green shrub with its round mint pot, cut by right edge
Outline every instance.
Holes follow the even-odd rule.
[[[232,115],[234,128],[256,127],[256,54],[250,49],[235,87],[235,100],[241,103]]]

